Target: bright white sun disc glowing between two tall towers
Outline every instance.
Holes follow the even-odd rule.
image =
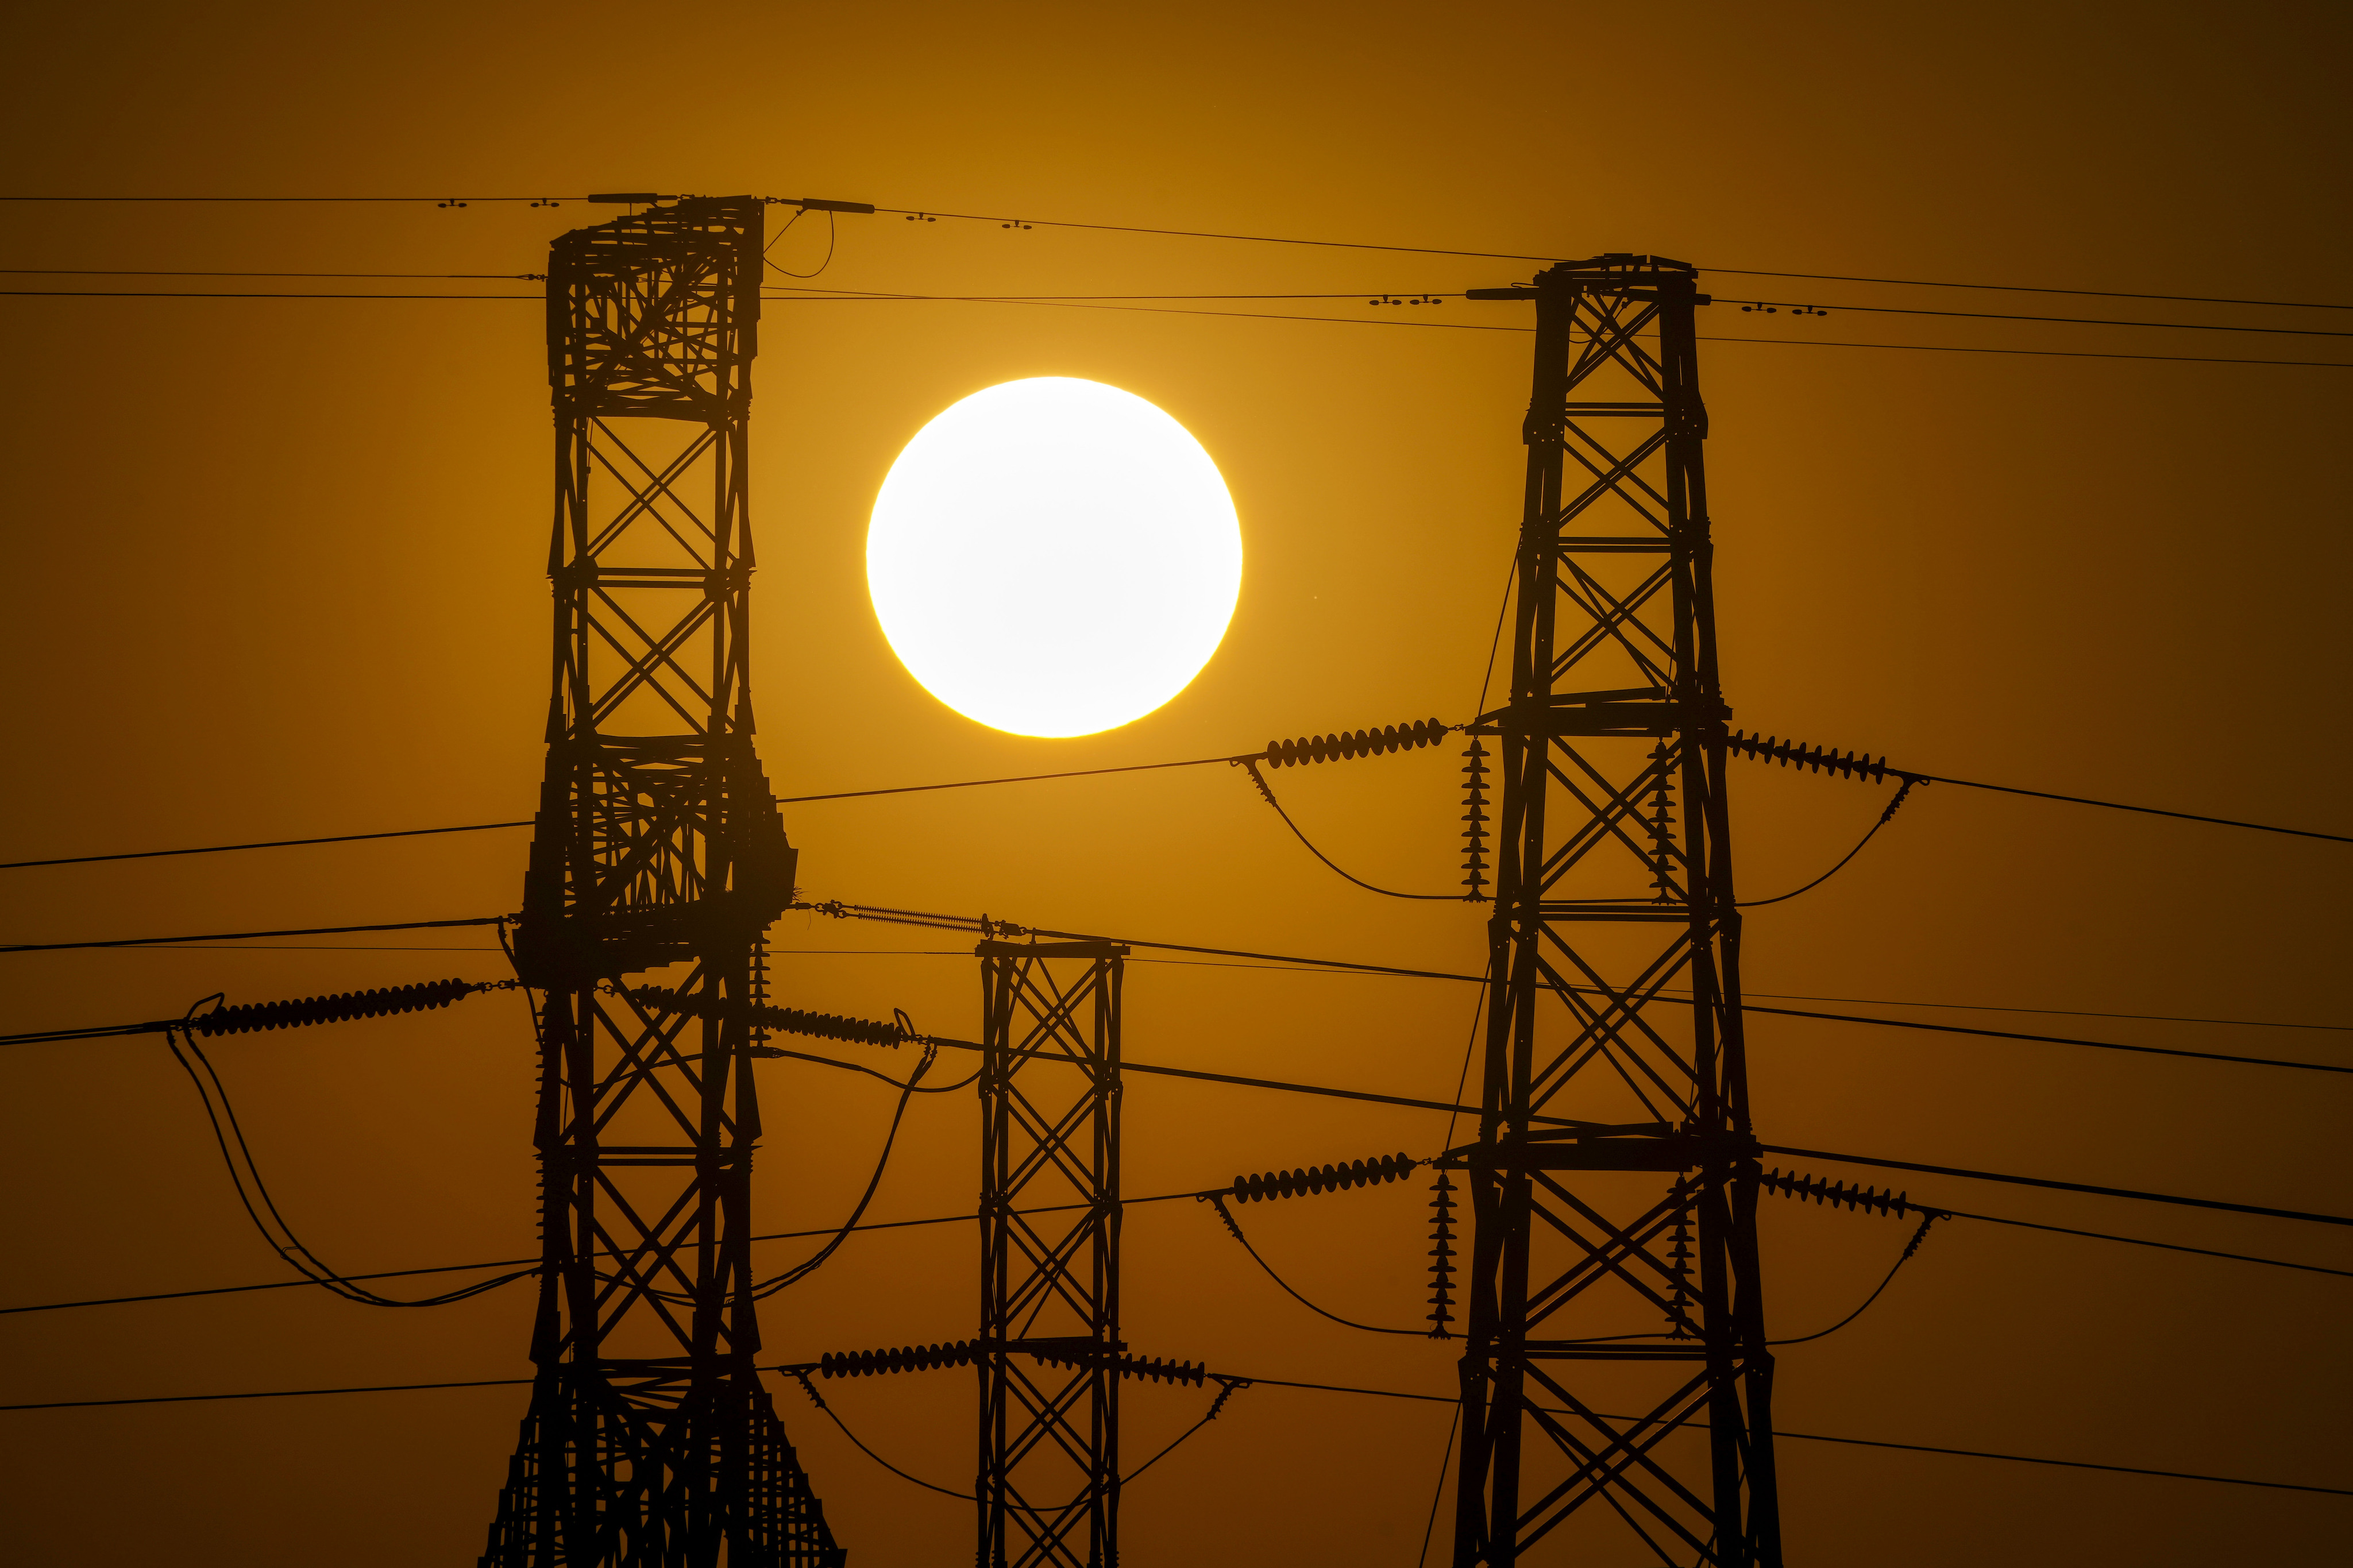
[[[1242,524],[1202,444],[1146,400],[1007,381],[892,463],[866,585],[941,703],[1016,736],[1089,736],[1209,663],[1242,592]]]

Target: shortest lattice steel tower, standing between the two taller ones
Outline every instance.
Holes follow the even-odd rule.
[[[984,940],[979,954],[976,1561],[1115,1568],[1127,947]],[[1038,1213],[1056,1204],[1075,1208]]]

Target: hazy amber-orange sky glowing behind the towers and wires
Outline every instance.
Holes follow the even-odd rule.
[[[78,5],[16,7],[16,193],[819,195],[1701,268],[2353,301],[2346,12],[2332,5]],[[0,209],[0,266],[536,273],[609,216],[468,207]],[[809,270],[821,221],[776,256]],[[988,294],[1494,287],[1527,263],[842,219],[821,282]],[[12,287],[212,287],[9,280]],[[221,287],[268,287],[224,282]],[[289,284],[325,287],[341,284]],[[355,282],[353,289],[407,284]],[[442,284],[421,284],[442,287]],[[529,292],[534,284],[447,284]],[[1708,273],[1737,301],[1925,303],[2353,329],[2353,313],[2047,301]],[[2019,301],[2019,303],[1988,303]],[[1280,306],[1278,306],[1280,308]],[[1525,306],[1334,313],[1525,324]],[[12,346],[0,858],[527,816],[551,510],[534,303],[0,299]],[[1715,339],[2353,360],[2332,339],[1833,313]],[[753,416],[755,691],[781,795],[1111,766],[1461,719],[1520,505],[1518,334],[967,303],[772,303]],[[1704,343],[1737,724],[1965,778],[2346,830],[2344,428],[2353,371]],[[1082,741],[984,729],[875,625],[866,520],[906,440],[1019,376],[1104,381],[1217,458],[1249,569],[1217,658]],[[1358,875],[1442,891],[1457,759],[1285,776]],[[1885,792],[1744,766],[1741,886],[1814,877]],[[788,809],[816,898],[1179,943],[1475,969],[1480,912],[1339,882],[1231,769]],[[489,914],[522,832],[5,872],[7,940]],[[2348,1023],[2344,846],[1918,792],[1847,872],[1748,922],[1755,992]],[[969,952],[788,917],[800,1006],[976,1027]],[[365,938],[315,938],[325,943]],[[409,943],[405,933],[384,938]],[[433,945],[431,938],[414,938]],[[299,997],[496,952],[0,954],[5,1025]],[[948,950],[908,954],[904,950]],[[1139,961],[1139,1060],[1447,1098],[1471,987]],[[1951,1018],[1951,1013],[1915,1013]],[[1984,1013],[2033,1030],[2033,1016]],[[2040,1020],[2059,1023],[2059,1020]],[[2106,1039],[2353,1060],[2346,1034],[2066,1020]],[[2068,1030],[2054,1030],[2068,1032]],[[224,1041],[280,1204],[344,1269],[529,1255],[522,1004]],[[760,1227],[838,1222],[889,1112],[762,1065]],[[824,1077],[821,1077],[824,1074]],[[847,1081],[845,1081],[847,1079]],[[1774,1143],[2353,1211],[2318,1074],[1760,1020]],[[958,1213],[976,1117],[908,1117],[875,1218]],[[1139,1081],[1127,1187],[1440,1147],[1405,1110]],[[1849,1175],[1849,1173],[1840,1173]],[[1960,1208],[2353,1267],[2341,1234],[1908,1182]],[[155,1039],[0,1060],[0,1305],[280,1269]],[[1419,1185],[1268,1206],[1252,1237],[1367,1321],[1424,1312]],[[1769,1204],[1774,1333],[1845,1314],[1906,1227]],[[762,1248],[791,1262],[800,1244]],[[866,1237],[767,1302],[774,1359],[972,1333],[974,1241]],[[1854,1328],[1781,1356],[1838,1432],[2346,1486],[2353,1281],[1946,1225]],[[1282,1298],[1195,1204],[1127,1222],[1155,1356],[1447,1392],[1452,1349]],[[0,1319],[0,1401],[525,1375],[529,1288],[395,1314],[315,1291]],[[835,1385],[894,1462],[962,1486],[972,1380]],[[1598,1382],[1607,1394],[1607,1380]],[[464,1563],[522,1387],[0,1415],[24,1563]],[[1195,1389],[1127,1394],[1129,1446]],[[969,1507],[779,1408],[861,1568],[969,1561]],[[1602,1406],[1609,1408],[1609,1406]],[[1445,1406],[1249,1389],[1129,1490],[1132,1568],[1407,1568]],[[1786,1443],[1793,1563],[2311,1563],[2348,1502]],[[1442,1528],[1442,1526],[1440,1526]],[[1435,1554],[1433,1554],[1435,1561]],[[1595,1568],[1631,1568],[1621,1556]]]

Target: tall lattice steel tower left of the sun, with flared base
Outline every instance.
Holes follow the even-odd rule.
[[[744,1023],[795,851],[753,755],[744,440],[762,207],[555,240],[555,693],[515,969],[539,992],[541,1274],[485,1568],[835,1568],[753,1356]],[[612,980],[685,966],[713,1018]]]

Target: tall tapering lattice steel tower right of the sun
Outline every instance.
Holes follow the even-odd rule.
[[[1657,256],[1473,299],[1534,299],[1537,371],[1511,698],[1473,726],[1501,811],[1480,1135],[1449,1159],[1473,1211],[1454,1563],[1626,1528],[1661,1563],[1777,1568],[1704,301]]]

